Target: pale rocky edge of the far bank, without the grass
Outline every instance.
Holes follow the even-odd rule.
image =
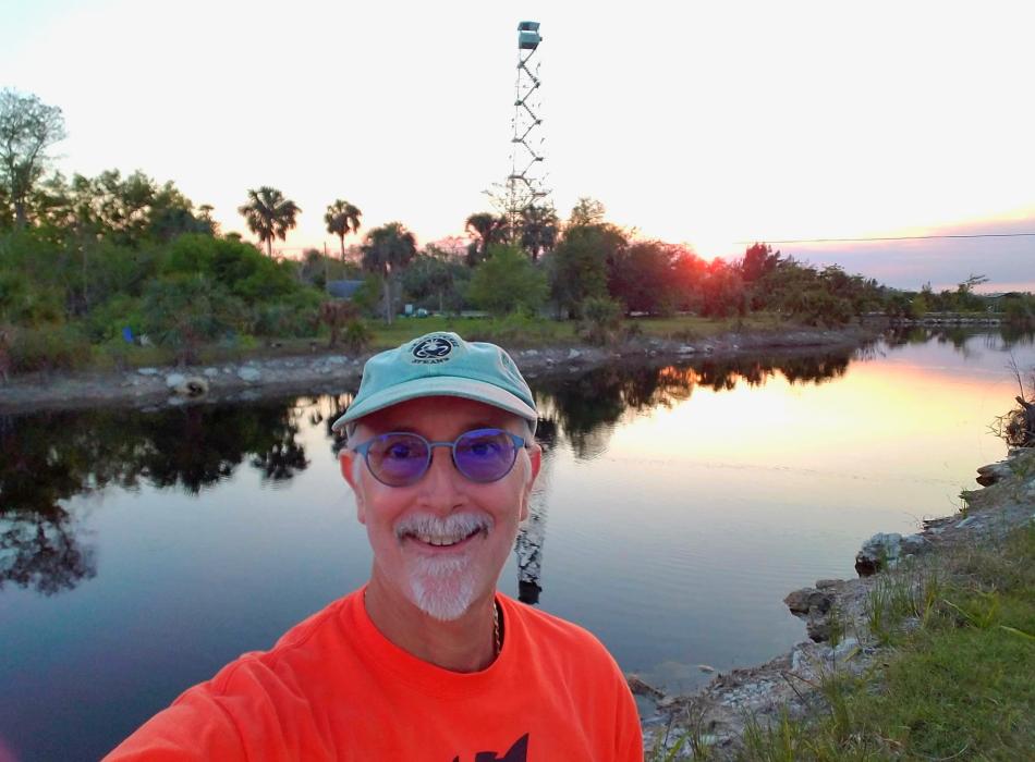
[[[588,370],[614,361],[661,361],[698,356],[818,348],[851,349],[876,337],[873,330],[803,329],[776,333],[729,333],[678,342],[637,337],[609,347],[584,345],[508,347],[529,378]],[[212,366],[133,368],[123,371],[33,373],[0,385],[0,413],[82,409],[99,406],[148,407],[211,402],[249,402],[299,394],[341,394],[358,386],[370,353],[307,354],[253,358]]]

